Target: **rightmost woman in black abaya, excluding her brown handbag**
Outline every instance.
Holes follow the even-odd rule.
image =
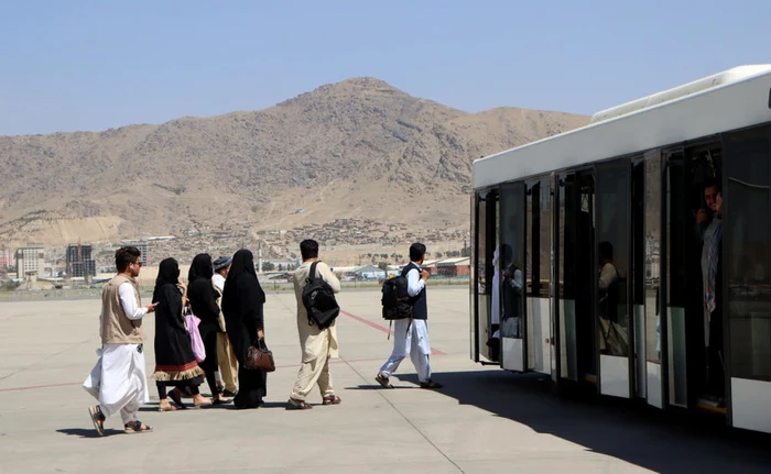
[[[264,302],[265,293],[257,279],[254,257],[250,251],[241,249],[232,257],[222,291],[225,326],[239,362],[239,388],[234,399],[237,408],[258,408],[268,393],[268,374],[243,368],[249,348],[264,338]]]

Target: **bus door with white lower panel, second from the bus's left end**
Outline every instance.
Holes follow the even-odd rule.
[[[525,187],[522,183],[500,188],[500,245],[491,252],[495,279],[490,280],[498,295],[501,367],[526,371],[528,342],[525,315]]]

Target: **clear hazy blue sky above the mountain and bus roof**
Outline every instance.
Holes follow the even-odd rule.
[[[0,0],[0,134],[273,106],[356,76],[590,114],[771,63],[769,0]]]

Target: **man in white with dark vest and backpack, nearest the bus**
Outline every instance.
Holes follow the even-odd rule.
[[[393,352],[380,367],[374,379],[383,388],[393,388],[389,377],[397,372],[399,364],[408,355],[417,371],[421,388],[442,388],[441,384],[431,379],[431,343],[428,342],[428,307],[426,305],[426,286],[428,272],[423,269],[425,245],[420,242],[410,245],[410,263],[402,269],[406,277],[406,293],[412,307],[412,316],[395,319],[393,323]],[[383,301],[386,302],[386,301]],[[383,311],[386,315],[386,311]]]

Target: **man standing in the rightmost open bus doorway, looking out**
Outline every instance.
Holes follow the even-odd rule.
[[[704,306],[704,343],[707,353],[706,390],[708,398],[723,403],[725,379],[723,367],[723,194],[720,180],[710,178],[704,185],[707,209],[699,209],[696,223],[702,236],[702,288]],[[712,216],[709,216],[712,214]]]

